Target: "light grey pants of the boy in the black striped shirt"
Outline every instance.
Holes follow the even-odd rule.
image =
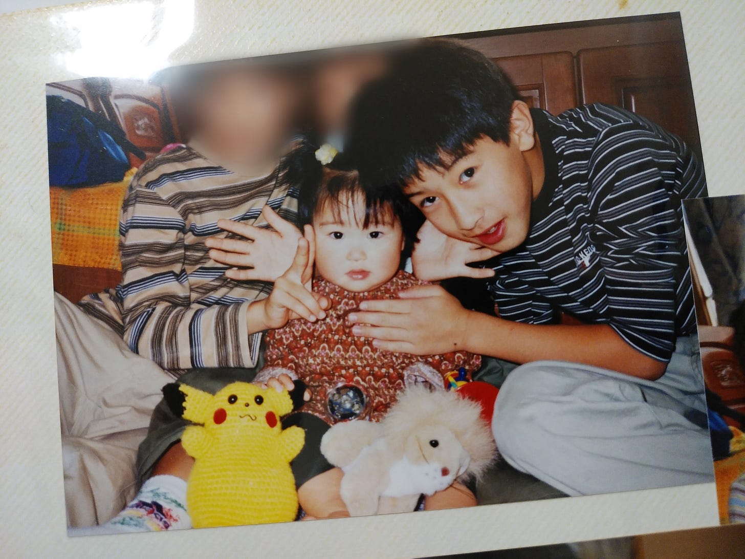
[[[512,370],[492,420],[502,457],[568,495],[714,481],[696,336],[656,381],[565,361]]]

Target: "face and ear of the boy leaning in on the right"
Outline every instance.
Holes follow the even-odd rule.
[[[442,233],[504,253],[527,236],[543,180],[536,150],[530,113],[516,102],[510,145],[482,136],[447,168],[422,168],[404,193]]]

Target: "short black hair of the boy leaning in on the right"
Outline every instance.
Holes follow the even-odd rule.
[[[368,191],[400,189],[447,167],[481,136],[510,142],[519,95],[484,54],[453,40],[403,48],[393,69],[358,95],[347,145]]]

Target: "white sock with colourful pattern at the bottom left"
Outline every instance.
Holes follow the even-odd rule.
[[[153,476],[115,517],[90,528],[69,528],[71,536],[180,530],[191,528],[186,512],[186,481],[176,476]]]

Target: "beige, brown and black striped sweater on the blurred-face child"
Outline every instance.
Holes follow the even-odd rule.
[[[121,209],[120,285],[80,306],[120,332],[130,349],[178,373],[193,367],[252,367],[261,334],[248,334],[247,307],[268,282],[224,276],[204,240],[228,236],[221,218],[268,227],[265,204],[297,221],[297,188],[275,169],[250,178],[180,147],[142,165]]]

